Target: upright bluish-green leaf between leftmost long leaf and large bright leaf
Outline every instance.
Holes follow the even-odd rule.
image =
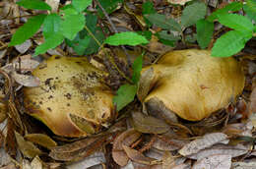
[[[45,39],[61,34],[61,18],[57,14],[48,15],[43,22],[42,34]]]

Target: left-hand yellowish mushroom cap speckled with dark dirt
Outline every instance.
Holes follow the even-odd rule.
[[[96,134],[114,117],[104,74],[86,58],[52,56],[32,72],[40,85],[24,88],[25,107],[58,136]]]

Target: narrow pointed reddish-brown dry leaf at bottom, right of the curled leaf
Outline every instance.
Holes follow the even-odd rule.
[[[124,144],[123,144],[123,149],[126,152],[126,154],[128,155],[128,157],[135,162],[138,162],[141,164],[146,164],[146,165],[155,165],[155,164],[159,163],[158,160],[156,160],[154,158],[147,157],[140,151],[133,149],[129,146],[126,146]]]

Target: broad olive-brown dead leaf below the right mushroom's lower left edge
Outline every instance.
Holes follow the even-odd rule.
[[[169,126],[164,121],[141,112],[132,113],[132,124],[135,130],[146,134],[163,134],[169,130]]]

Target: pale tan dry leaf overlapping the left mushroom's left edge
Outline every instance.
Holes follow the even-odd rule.
[[[24,86],[38,86],[40,84],[40,81],[38,78],[30,75],[22,75],[22,74],[13,72],[12,77],[18,84],[22,84]]]

